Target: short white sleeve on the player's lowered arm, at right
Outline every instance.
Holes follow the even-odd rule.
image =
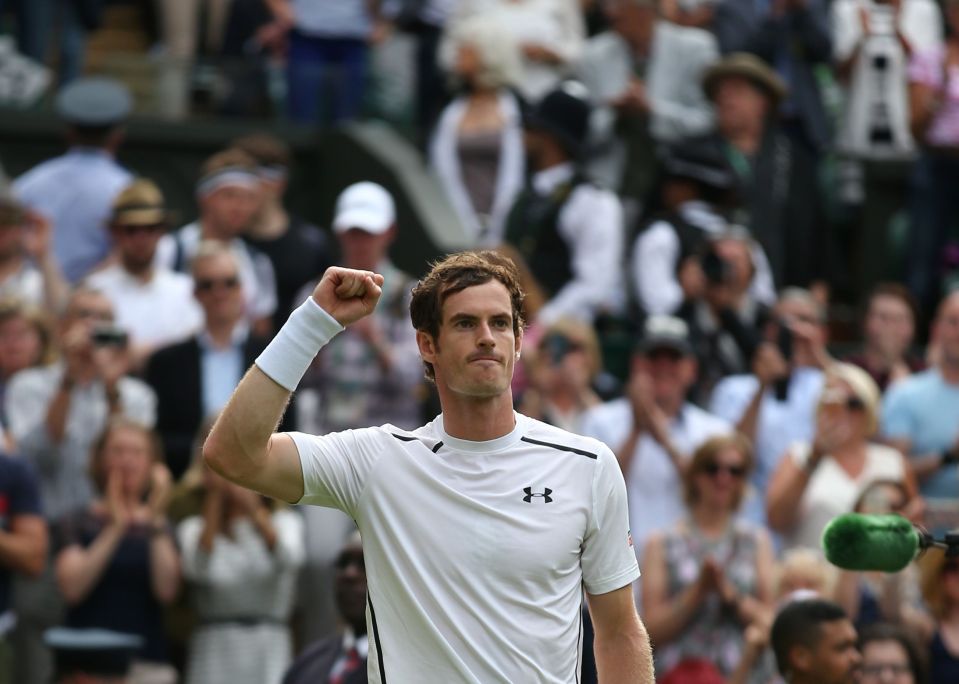
[[[629,530],[626,483],[609,449],[599,452],[593,474],[593,509],[583,540],[583,583],[590,594],[606,594],[634,582],[639,564]]]

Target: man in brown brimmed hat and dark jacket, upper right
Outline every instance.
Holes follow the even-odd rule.
[[[717,130],[692,144],[711,146],[733,171],[776,286],[807,287],[822,273],[825,231],[816,158],[776,123],[785,84],[756,57],[733,54],[706,71],[703,89],[716,107]]]

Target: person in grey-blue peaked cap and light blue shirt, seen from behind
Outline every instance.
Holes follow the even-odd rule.
[[[115,161],[132,100],[109,79],[79,79],[57,96],[69,149],[17,179],[17,198],[53,227],[53,254],[77,283],[110,251],[106,231],[114,198],[133,177]]]

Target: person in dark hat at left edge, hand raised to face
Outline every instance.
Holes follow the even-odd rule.
[[[0,195],[0,297],[59,311],[68,286],[50,250],[50,221]]]

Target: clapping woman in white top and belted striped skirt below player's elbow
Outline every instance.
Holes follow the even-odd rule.
[[[203,468],[202,515],[177,528],[199,622],[186,684],[278,684],[293,658],[288,627],[303,562],[299,514]]]

